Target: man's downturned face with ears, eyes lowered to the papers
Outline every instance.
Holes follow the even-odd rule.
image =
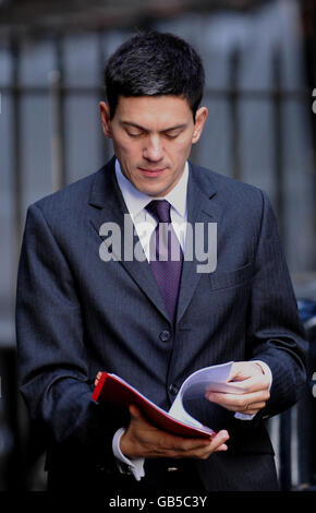
[[[194,122],[186,99],[180,96],[121,96],[112,120],[104,102],[100,115],[125,177],[139,191],[158,198],[180,180],[207,109],[200,108]]]

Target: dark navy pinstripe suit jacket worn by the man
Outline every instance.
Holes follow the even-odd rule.
[[[218,224],[218,264],[185,261],[175,326],[147,261],[104,262],[99,228],[123,228],[114,159],[28,208],[16,306],[21,392],[48,433],[48,469],[114,473],[111,440],[129,421],[90,399],[98,370],[120,374],[169,409],[193,371],[260,359],[271,397],[252,421],[206,399],[192,413],[230,433],[227,453],[193,462],[209,490],[276,488],[263,417],[293,405],[305,381],[303,333],[269,201],[260,190],[191,165],[187,217]],[[192,406],[192,405],[191,405]]]

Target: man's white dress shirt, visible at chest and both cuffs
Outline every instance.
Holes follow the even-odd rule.
[[[149,212],[145,208],[153,198],[144,192],[138,191],[133,183],[123,175],[119,160],[116,160],[116,175],[119,188],[122,192],[124,202],[126,204],[127,211],[131,215],[132,222],[135,226],[135,230],[139,238],[139,242],[143,247],[145,255],[149,262],[149,240],[153,231],[156,228],[157,220],[154,218]],[[167,200],[171,204],[170,216],[172,227],[175,231],[175,235],[184,252],[185,246],[185,231],[186,231],[186,191],[187,191],[187,180],[189,180],[189,164],[185,163],[183,175],[181,176],[177,186],[161,200]],[[160,199],[160,198],[159,198]],[[262,362],[257,361],[263,371],[270,377],[271,383],[271,371],[269,367]],[[247,414],[235,414],[236,418],[242,420],[251,420],[254,416]],[[134,460],[129,460],[121,452],[120,440],[124,433],[124,429],[119,429],[112,440],[112,450],[117,458],[118,466],[122,473],[129,472],[132,473],[136,480],[144,477],[144,457],[138,457]]]

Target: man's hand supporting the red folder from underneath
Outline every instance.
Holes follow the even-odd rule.
[[[135,457],[192,457],[206,460],[215,451],[226,451],[227,431],[219,431],[210,441],[183,438],[155,428],[135,405],[130,406],[131,422],[121,438],[121,451],[130,460]]]

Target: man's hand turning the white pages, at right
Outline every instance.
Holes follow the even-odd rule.
[[[231,411],[255,415],[266,406],[270,397],[270,380],[254,361],[236,361],[232,365],[228,382],[241,387],[241,393],[207,392],[206,398]],[[243,392],[246,389],[246,393]]]

